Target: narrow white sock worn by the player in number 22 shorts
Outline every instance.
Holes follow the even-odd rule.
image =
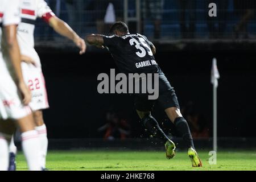
[[[40,140],[40,150],[42,154],[41,166],[43,168],[46,168],[46,155],[47,155],[47,148],[48,148],[46,125],[43,124],[42,126],[37,126],[35,127],[35,130],[38,132],[38,137]]]

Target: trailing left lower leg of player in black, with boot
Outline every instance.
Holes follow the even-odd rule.
[[[139,111],[137,110],[139,117],[141,118],[143,126],[150,131],[150,133],[160,139],[162,139],[165,143],[166,147],[166,158],[171,159],[174,158],[175,155],[175,144],[170,140],[167,135],[163,132],[163,130],[158,125],[158,122],[152,117],[150,111]]]

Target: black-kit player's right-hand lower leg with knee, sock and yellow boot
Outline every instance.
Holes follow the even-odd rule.
[[[172,123],[174,123],[177,131],[183,138],[184,142],[187,144],[188,156],[191,159],[192,167],[201,167],[202,162],[195,150],[188,123],[180,113],[180,109],[177,107],[170,107],[165,111],[168,115],[168,118],[171,120]]]

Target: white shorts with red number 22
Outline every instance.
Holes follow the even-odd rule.
[[[30,107],[32,111],[47,109],[49,104],[42,69],[32,64],[22,63],[22,73],[31,91]]]

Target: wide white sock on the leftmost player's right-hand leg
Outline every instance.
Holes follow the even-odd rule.
[[[30,171],[41,171],[38,133],[35,130],[30,130],[22,133],[21,137],[22,149],[27,159],[28,169]]]

